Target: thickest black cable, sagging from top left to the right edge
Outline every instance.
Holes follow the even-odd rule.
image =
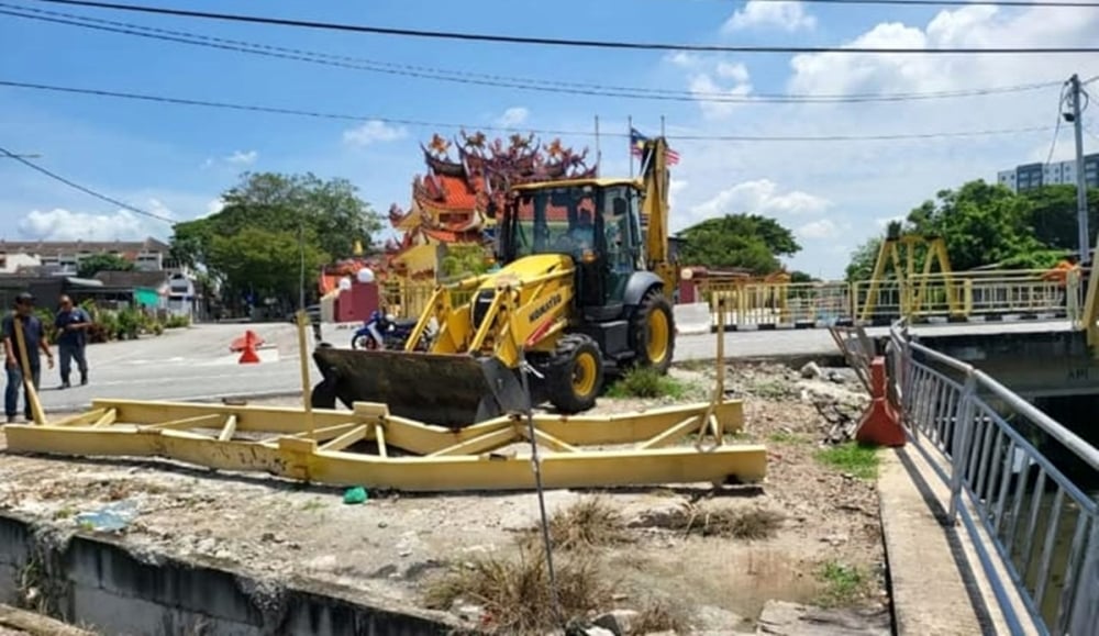
[[[429,40],[453,40],[460,42],[491,42],[497,44],[524,44],[540,46],[567,46],[582,48],[613,48],[626,51],[693,51],[711,53],[876,53],[884,55],[988,55],[988,54],[1064,54],[1064,53],[1099,53],[1099,47],[1051,47],[1051,48],[870,48],[842,46],[762,46],[762,45],[719,45],[719,44],[671,44],[662,42],[624,42],[607,40],[576,40],[554,37],[531,37],[519,35],[497,35],[487,33],[462,33],[456,31],[428,31],[419,29],[396,29],[388,26],[368,26],[338,22],[317,22],[309,20],[288,20],[282,18],[265,18],[260,15],[242,15],[235,13],[213,13],[209,11],[188,11],[165,7],[144,7],[136,4],[116,4],[113,2],[95,2],[91,0],[34,0],[49,4],[68,4],[90,7],[115,11],[151,13],[155,15],[171,15],[177,18],[199,18],[203,20],[221,20],[249,24],[268,24],[277,26],[293,26],[299,29],[319,29],[324,31],[342,31],[348,33],[368,33],[373,35],[390,35],[400,37],[419,37]]]

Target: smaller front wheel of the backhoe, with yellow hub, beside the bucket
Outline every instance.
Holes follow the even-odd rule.
[[[562,336],[546,365],[546,393],[562,413],[580,413],[596,405],[603,389],[603,355],[584,334]]]

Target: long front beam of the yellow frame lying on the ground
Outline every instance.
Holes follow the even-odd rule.
[[[11,424],[4,427],[14,453],[76,456],[167,457],[208,468],[268,472],[335,486],[403,491],[528,490],[534,488],[529,458],[476,456],[381,458],[318,450],[315,440],[284,437],[278,447],[254,442],[220,442],[180,431],[57,427]],[[710,453],[693,448],[603,450],[553,454],[543,458],[547,488],[754,482],[766,475],[766,448],[725,446]]]

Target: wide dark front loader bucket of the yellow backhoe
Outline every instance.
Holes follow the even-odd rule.
[[[322,346],[313,361],[324,376],[313,390],[319,408],[380,402],[393,415],[448,428],[526,408],[518,373],[491,357]]]

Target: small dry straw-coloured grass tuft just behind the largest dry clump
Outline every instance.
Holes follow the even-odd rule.
[[[529,547],[541,549],[542,526],[524,533]],[[550,517],[550,542],[554,549],[577,550],[622,543],[626,538],[622,515],[606,500],[585,498]]]

